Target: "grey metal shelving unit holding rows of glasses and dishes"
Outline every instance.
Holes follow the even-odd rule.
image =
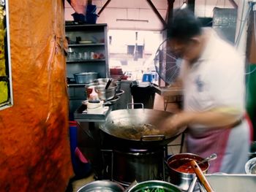
[[[72,24],[65,26],[69,41],[67,77],[79,72],[98,72],[98,78],[110,77],[108,69],[108,26],[102,24]],[[73,55],[71,55],[73,54]],[[94,56],[100,55],[99,58]],[[69,117],[86,99],[85,84],[68,84]]]

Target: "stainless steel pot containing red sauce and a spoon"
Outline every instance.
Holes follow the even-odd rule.
[[[167,159],[167,165],[169,168],[170,183],[177,185],[184,191],[189,189],[189,185],[192,183],[192,180],[196,177],[194,172],[189,172],[187,169],[183,169],[184,164],[188,164],[189,161],[195,160],[196,162],[203,161],[204,158],[199,155],[192,153],[178,153],[172,155]],[[200,169],[203,173],[206,173],[209,167],[209,163],[205,162],[200,164]]]

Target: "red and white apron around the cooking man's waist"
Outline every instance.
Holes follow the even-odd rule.
[[[203,133],[195,133],[191,128],[187,132],[187,151],[203,158],[212,153],[217,159],[210,162],[208,173],[225,172],[244,173],[248,161],[249,126],[245,120],[230,128],[211,128]]]

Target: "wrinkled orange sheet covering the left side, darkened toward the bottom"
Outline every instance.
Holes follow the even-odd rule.
[[[65,191],[72,164],[64,2],[9,4],[14,105],[0,110],[0,191]]]

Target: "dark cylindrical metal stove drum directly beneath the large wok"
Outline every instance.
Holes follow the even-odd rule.
[[[129,185],[134,180],[162,180],[164,148],[113,150],[113,180]]]

